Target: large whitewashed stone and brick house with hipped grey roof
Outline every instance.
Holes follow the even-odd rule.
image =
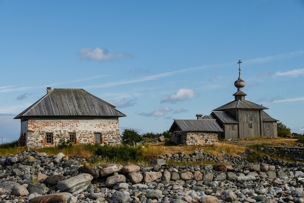
[[[47,94],[18,114],[20,146],[53,147],[61,139],[74,144],[120,144],[115,106],[83,89],[47,88]]]

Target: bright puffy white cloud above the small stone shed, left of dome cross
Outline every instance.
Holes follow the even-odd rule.
[[[171,94],[170,96],[165,96],[162,98],[161,103],[171,102],[176,103],[177,101],[185,101],[198,96],[196,92],[190,89],[179,89],[177,92]]]

